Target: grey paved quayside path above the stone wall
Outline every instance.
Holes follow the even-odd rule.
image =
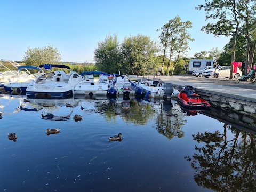
[[[154,78],[154,76],[150,76],[150,78]],[[195,89],[209,93],[212,92],[256,102],[256,82],[238,83],[238,79],[215,79],[195,77],[191,75],[155,76],[155,78],[161,78],[164,82],[172,83],[180,87],[183,85],[190,85],[195,87]]]

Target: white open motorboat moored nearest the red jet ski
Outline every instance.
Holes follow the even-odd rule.
[[[153,78],[153,79],[141,78],[136,83],[146,92],[146,95],[145,95],[146,97],[149,96],[152,98],[162,98],[165,95],[165,92],[164,92],[165,82],[163,82],[159,78]],[[173,87],[171,92],[172,92],[171,95],[174,97],[177,97],[179,93],[179,91],[174,89]]]

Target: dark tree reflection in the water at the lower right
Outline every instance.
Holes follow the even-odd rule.
[[[234,134],[227,137],[227,129]],[[205,132],[192,135],[200,143],[195,146],[191,162],[198,186],[214,191],[255,191],[256,136],[224,124],[223,134]]]

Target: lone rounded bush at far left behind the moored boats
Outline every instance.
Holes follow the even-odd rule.
[[[28,47],[23,61],[28,66],[39,66],[44,63],[57,63],[61,60],[61,54],[53,45],[42,47]]]

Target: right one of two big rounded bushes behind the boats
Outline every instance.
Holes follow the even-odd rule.
[[[123,68],[127,74],[143,75],[156,67],[158,48],[147,35],[125,37],[122,43]]]

